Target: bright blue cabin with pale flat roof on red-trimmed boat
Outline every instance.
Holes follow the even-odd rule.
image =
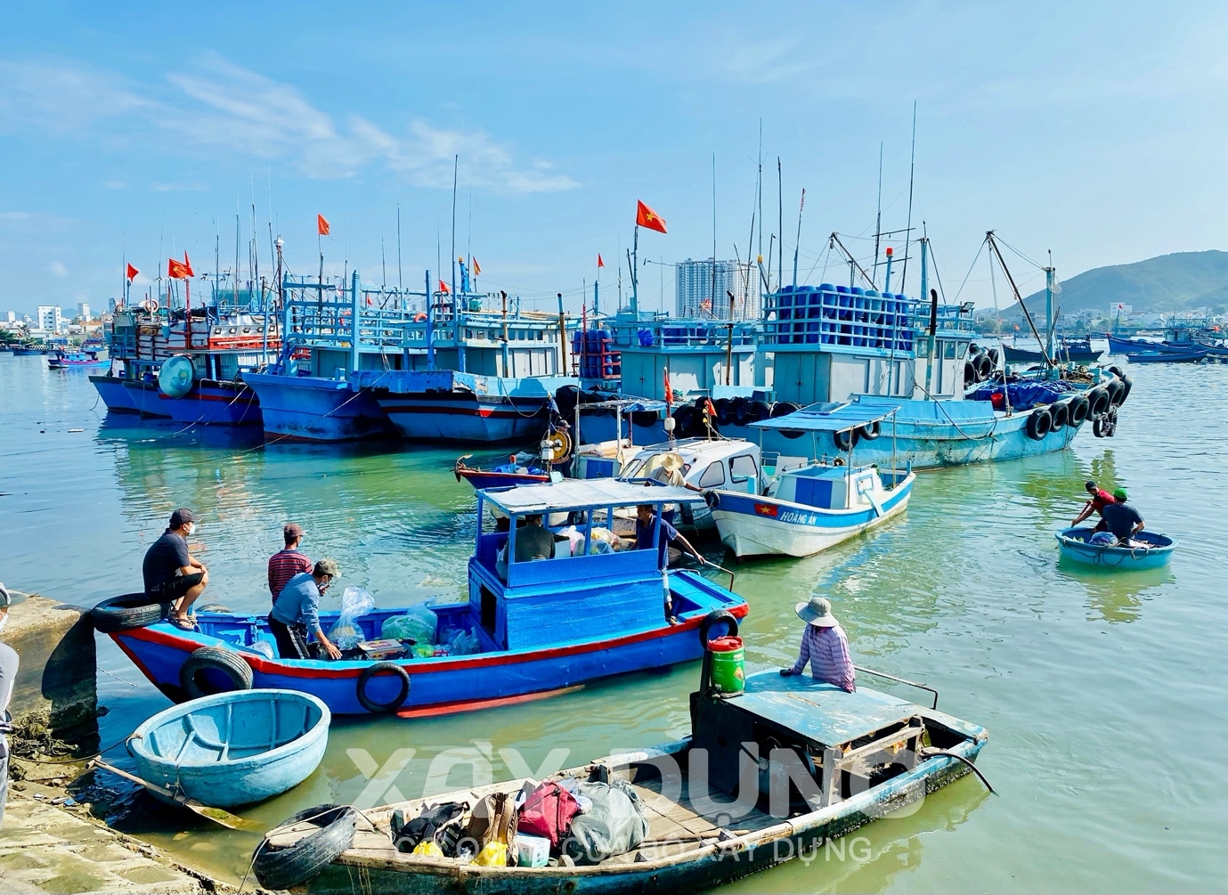
[[[483,638],[495,649],[524,649],[659,627],[659,522],[650,548],[625,549],[613,535],[612,521],[618,509],[634,512],[641,503],[653,506],[659,521],[663,505],[693,498],[684,489],[616,479],[479,491],[469,606]],[[492,519],[488,507],[506,521]],[[554,534],[554,559],[516,561],[516,539],[530,516],[543,517]],[[560,521],[564,524],[553,524]],[[674,615],[699,608],[678,592],[673,600]]]

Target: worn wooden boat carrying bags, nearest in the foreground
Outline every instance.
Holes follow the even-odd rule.
[[[344,851],[334,850],[336,857],[305,889],[349,895],[361,879],[363,890],[381,893],[702,891],[824,847],[842,854],[844,834],[975,771],[989,739],[982,727],[933,706],[868,688],[845,692],[809,678],[782,678],[775,669],[749,675],[745,692],[734,699],[701,685],[691,694],[691,729],[686,739],[550,777],[634,793],[647,830],[621,854],[593,854],[587,840],[570,836],[561,851],[578,858],[479,867],[393,846],[395,812],[411,819],[431,804],[475,805],[491,793],[515,797],[537,783],[522,778],[363,812],[371,826],[361,825],[349,847],[343,841]],[[292,854],[316,830],[284,826],[262,848]]]

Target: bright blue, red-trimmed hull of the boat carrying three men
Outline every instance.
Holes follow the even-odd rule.
[[[628,631],[602,640],[573,640],[549,647],[476,653],[472,656],[398,659],[410,678],[409,694],[399,706],[410,716],[447,713],[515,701],[566,689],[591,680],[698,659],[702,648],[698,630],[712,609],[727,609],[742,618],[748,608],[740,598],[715,600],[716,589],[690,572],[670,573],[675,598],[689,599],[700,609],[679,616],[682,624]],[[325,629],[330,614],[322,613]],[[263,619],[228,613],[199,613],[208,625],[246,630],[266,624]],[[182,631],[168,624],[151,625],[111,635],[119,648],[163,694],[182,700],[179,669],[193,649],[216,646],[222,638]],[[321,699],[334,715],[366,715],[357,696],[359,676],[372,662],[268,659],[239,651],[252,667],[254,688],[298,690]],[[366,694],[375,702],[395,697],[399,679],[378,675]]]

